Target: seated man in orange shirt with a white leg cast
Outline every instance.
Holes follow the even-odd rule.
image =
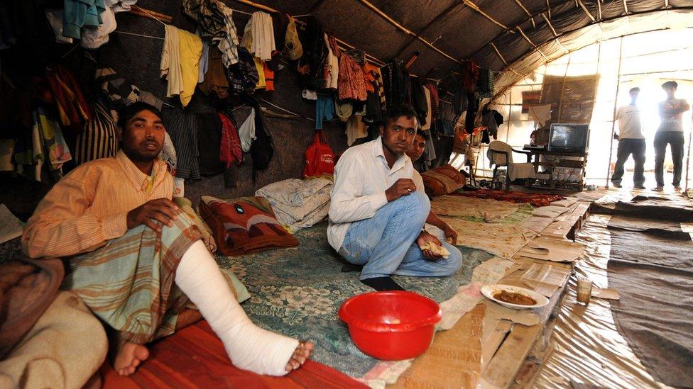
[[[234,366],[273,376],[298,368],[313,344],[253,325],[200,230],[171,201],[173,176],[158,158],[165,137],[158,109],[133,103],[118,125],[121,150],[55,184],[26,224],[23,252],[69,259],[62,286],[116,331],[111,350],[121,375],[148,358],[144,344],[185,324],[178,314],[190,302]]]

